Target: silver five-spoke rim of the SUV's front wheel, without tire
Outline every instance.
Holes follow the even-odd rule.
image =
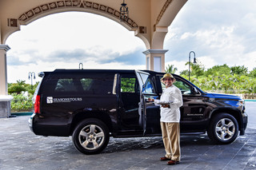
[[[216,124],[215,133],[219,140],[230,140],[234,136],[235,125],[234,122],[228,118],[223,118]]]

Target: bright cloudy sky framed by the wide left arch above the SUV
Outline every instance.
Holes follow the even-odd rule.
[[[68,17],[69,15],[70,17]],[[72,18],[76,18],[82,22],[73,22]],[[47,20],[50,21],[47,22]],[[100,26],[101,24],[103,28]],[[45,27],[32,33],[31,30],[33,30],[33,26],[35,25]],[[62,30],[62,32],[58,30]],[[20,34],[23,34],[22,32],[24,31],[26,31],[26,34],[30,34],[30,36],[26,37],[24,35],[22,37]],[[110,31],[112,32],[110,33]],[[47,34],[47,36],[43,34]],[[34,36],[42,38],[42,41],[35,40],[33,38]],[[16,41],[14,38],[22,39],[22,44],[15,44],[14,42]],[[123,40],[125,40],[124,42],[127,41],[127,43],[122,43]],[[42,42],[47,41],[47,45],[42,44]],[[27,26],[22,26],[22,31],[12,34],[7,39],[7,42],[12,48],[8,52],[8,63],[13,63],[8,66],[9,75],[12,75],[14,67],[17,67],[17,65],[15,66],[15,61],[24,63],[23,69],[30,65],[30,69],[36,73],[56,68],[77,69],[78,63],[80,62],[83,63],[85,69],[130,69],[132,63],[138,63],[134,65],[133,69],[144,69],[145,67],[145,55],[142,53],[145,50],[145,46],[140,38],[134,37],[133,32],[126,30],[126,28],[120,26],[117,22],[85,12],[66,12],[40,18]],[[95,45],[97,42],[100,43]],[[58,49],[57,44],[61,45],[63,50]],[[36,48],[40,48],[43,53]],[[33,55],[27,55],[26,52],[28,51],[31,51]],[[41,67],[40,69],[33,63],[28,63],[29,61],[26,58],[29,59],[30,57],[34,57],[34,62],[39,65],[45,65],[44,68],[42,69]],[[54,63],[57,61],[60,65],[54,67]],[[70,61],[70,64],[67,65],[64,61]],[[22,79],[27,79],[27,73],[24,73],[25,71],[22,72],[22,69],[19,71],[21,73],[20,75],[22,75],[21,78],[24,77]]]

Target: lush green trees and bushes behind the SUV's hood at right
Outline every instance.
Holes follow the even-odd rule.
[[[186,65],[188,62],[186,63]],[[188,79],[188,69],[180,75]],[[256,68],[248,72],[242,66],[214,65],[204,71],[202,65],[191,63],[190,81],[204,91],[221,93],[256,93]]]

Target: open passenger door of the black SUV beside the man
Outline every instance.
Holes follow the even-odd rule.
[[[144,135],[161,134],[160,127],[160,108],[152,102],[146,102],[147,98],[157,98],[155,93],[153,80],[150,79],[150,73],[136,70],[138,84],[140,87],[140,102],[139,102],[139,125],[142,126]]]

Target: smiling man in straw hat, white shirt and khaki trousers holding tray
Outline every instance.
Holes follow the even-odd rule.
[[[183,105],[182,93],[174,84],[176,79],[170,73],[166,73],[161,81],[166,85],[163,90],[160,102],[170,102],[170,104],[161,105],[161,129],[162,140],[166,150],[166,156],[160,160],[169,160],[167,164],[178,164],[181,159],[180,150],[180,110]],[[154,99],[150,99],[154,101]]]

